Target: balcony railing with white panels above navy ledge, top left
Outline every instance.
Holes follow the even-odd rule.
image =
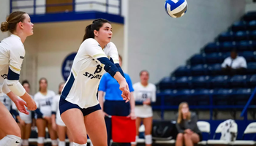
[[[10,12],[20,10],[29,13],[29,15],[42,15],[47,12],[49,7],[67,7],[70,9],[59,12],[105,12],[113,15],[121,15],[121,0],[72,0],[69,3],[57,1],[59,4],[47,4],[52,0],[10,0]],[[72,6],[72,7],[71,7]],[[58,12],[58,11],[56,11]]]

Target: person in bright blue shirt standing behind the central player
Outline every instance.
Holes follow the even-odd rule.
[[[121,55],[119,55],[119,64],[122,64]],[[110,140],[112,139],[111,133],[111,120],[109,118],[110,115],[118,115],[118,116],[128,116],[132,119],[136,119],[135,117],[135,99],[133,97],[132,88],[132,80],[130,79],[128,74],[124,73],[124,77],[127,80],[129,91],[130,91],[130,101],[126,102],[121,97],[121,91],[119,90],[119,84],[116,80],[111,77],[110,74],[105,73],[102,76],[102,79],[99,82],[99,91],[98,98],[100,107],[102,107],[103,115],[105,116],[105,123],[108,132],[108,145],[110,145]],[[103,100],[103,96],[105,93],[105,101]],[[130,143],[123,143],[123,146],[131,145]]]

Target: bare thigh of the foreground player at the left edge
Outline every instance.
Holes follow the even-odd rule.
[[[21,137],[20,128],[9,110],[0,102],[0,129],[4,132],[4,134],[15,135],[17,137]]]

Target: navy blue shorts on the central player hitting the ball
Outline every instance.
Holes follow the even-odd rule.
[[[82,109],[77,104],[72,104],[69,101],[60,98],[59,99],[59,112],[60,112],[60,114],[62,114],[63,112],[65,112],[69,109],[79,109],[83,113],[83,116],[86,116],[86,115],[91,114],[91,112],[101,110],[102,108],[100,107],[99,104],[97,104],[94,107],[88,107],[86,109]]]

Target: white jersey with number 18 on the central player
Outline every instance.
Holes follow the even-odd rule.
[[[118,51],[113,42],[108,43],[102,50],[95,39],[86,39],[79,47],[72,64],[69,78],[61,92],[61,98],[77,104],[80,108],[93,107],[99,104],[97,90],[104,64],[98,58],[109,58],[118,64]]]

